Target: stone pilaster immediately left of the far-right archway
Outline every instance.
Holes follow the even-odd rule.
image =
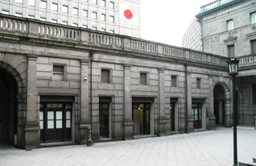
[[[209,129],[215,129],[215,120],[216,117],[214,115],[214,99],[213,99],[213,90],[214,90],[214,84],[212,76],[209,76],[209,126],[207,128]]]

